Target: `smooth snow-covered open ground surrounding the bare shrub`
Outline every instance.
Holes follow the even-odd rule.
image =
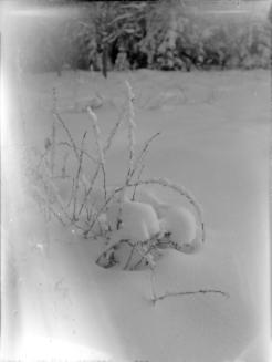
[[[102,134],[112,128],[125,80],[136,95],[137,142],[160,132],[146,176],[184,185],[205,213],[206,242],[188,255],[164,250],[155,268],[156,293],[220,289],[229,298],[178,296],[154,306],[148,270],[101,268],[94,240],[45,223],[28,195],[23,144],[44,146],[52,89],[80,141],[90,128],[82,112],[88,102],[102,103],[95,110]],[[61,77],[27,76],[19,92],[14,82],[9,84],[9,122],[2,126],[3,356],[269,361],[270,73],[142,70],[109,73],[105,80],[65,71]],[[106,165],[112,185],[124,175],[126,143],[121,130]],[[175,194],[157,195],[172,205],[182,201]]]

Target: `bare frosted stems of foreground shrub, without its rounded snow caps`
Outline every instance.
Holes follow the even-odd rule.
[[[32,166],[29,166],[33,196],[48,218],[56,218],[85,238],[103,236],[105,239],[111,239],[114,230],[111,229],[106,218],[111,204],[118,204],[118,221],[115,226],[118,230],[122,228],[122,209],[125,197],[130,193],[130,200],[134,201],[139,186],[159,186],[175,192],[191,205],[201,229],[201,240],[205,241],[202,209],[195,196],[184,186],[166,178],[143,178],[146,156],[151,143],[160,133],[149,137],[136,152],[135,96],[130,84],[126,82],[125,85],[126,102],[106,138],[103,141],[97,115],[90,106],[87,107],[87,115],[91,127],[83,132],[80,143],[74,139],[65,121],[57,112],[57,95],[55,90],[53,91],[52,130],[45,138],[44,148],[42,151],[32,149],[33,162]],[[109,188],[106,161],[122,124],[127,128],[127,165],[121,185]],[[92,152],[88,151],[91,147],[87,147],[87,144],[91,144],[90,133],[94,139]],[[65,196],[62,193],[64,184],[67,189]],[[98,203],[96,203],[97,189]],[[153,265],[159,256],[159,248],[163,245],[178,249],[177,245],[160,234],[148,240],[139,240],[134,245],[130,240],[117,238],[114,245],[108,244],[111,247],[105,246],[97,263],[103,263],[106,267],[112,266],[116,259],[116,248],[122,244],[129,247],[124,269],[130,270],[142,268],[145,265]]]

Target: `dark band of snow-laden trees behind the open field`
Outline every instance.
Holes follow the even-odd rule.
[[[43,3],[70,3],[71,13],[36,19],[20,34],[28,71],[270,66],[269,17],[203,14],[180,0]]]

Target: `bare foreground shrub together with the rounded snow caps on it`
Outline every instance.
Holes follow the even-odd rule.
[[[108,268],[117,263],[135,270],[146,265],[153,268],[167,247],[193,251],[197,242],[205,241],[205,226],[201,207],[187,188],[167,178],[143,178],[145,157],[159,133],[136,152],[134,94],[128,82],[126,90],[121,116],[106,137],[102,137],[96,114],[87,107],[91,126],[80,144],[53,106],[51,134],[43,151],[31,153],[28,177],[32,195],[46,217],[98,240],[98,265]],[[107,156],[121,124],[127,128],[127,163],[123,182],[111,187]],[[92,152],[87,147],[90,131]],[[188,209],[161,201],[147,190],[154,186],[185,198]]]

